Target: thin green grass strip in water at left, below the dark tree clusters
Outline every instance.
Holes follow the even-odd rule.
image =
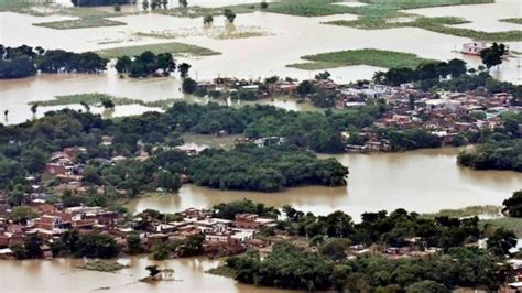
[[[48,106],[65,106],[65,105],[78,105],[80,102],[85,102],[89,106],[100,106],[102,99],[110,99],[117,106],[122,105],[141,105],[144,107],[154,107],[154,108],[168,108],[175,101],[172,99],[164,99],[164,100],[154,100],[154,101],[143,101],[140,99],[130,99],[130,98],[120,98],[110,96],[107,94],[77,94],[77,95],[67,95],[67,96],[56,96],[54,99],[51,100],[43,100],[43,101],[30,101],[28,105],[35,105],[42,107]]]

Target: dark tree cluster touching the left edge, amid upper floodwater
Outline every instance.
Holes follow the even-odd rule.
[[[100,73],[107,59],[96,53],[73,53],[42,47],[0,45],[0,79],[21,78],[42,73]]]

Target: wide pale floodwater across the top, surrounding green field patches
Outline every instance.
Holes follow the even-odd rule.
[[[229,0],[224,0],[229,1]],[[231,0],[238,1],[239,0]],[[177,2],[177,1],[174,1]],[[213,3],[214,1],[202,0]],[[244,2],[244,1],[241,1]],[[498,3],[466,7],[446,7],[413,10],[423,15],[458,15],[472,21],[477,29],[496,30],[494,28],[520,29],[522,25],[498,22],[499,19],[520,17],[521,6],[518,0],[498,0]],[[351,3],[352,4],[352,3]],[[486,13],[487,12],[487,13]],[[316,72],[285,67],[301,62],[303,55],[373,47],[414,53],[426,58],[449,59],[464,58],[471,66],[478,66],[480,58],[463,56],[456,53],[460,45],[470,41],[466,37],[438,34],[421,29],[401,28],[390,30],[365,31],[351,28],[325,25],[329,20],[354,20],[356,15],[328,15],[302,18],[268,12],[238,14],[235,25],[239,30],[255,30],[265,33],[263,36],[216,40],[205,35],[200,19],[182,19],[154,13],[115,18],[128,25],[91,28],[80,30],[53,30],[34,26],[33,23],[69,19],[68,17],[32,17],[11,12],[0,13],[0,43],[4,45],[29,44],[47,48],[64,48],[75,52],[109,48],[116,46],[183,42],[200,45],[220,52],[220,55],[206,57],[180,57],[180,62],[193,65],[193,78],[211,79],[216,76],[240,78],[264,78],[272,75],[295,78],[312,78]],[[222,28],[222,17],[215,18],[215,25]],[[486,23],[486,24],[483,24]],[[509,25],[509,28],[502,26]],[[6,30],[4,28],[17,28]],[[233,28],[229,28],[233,30]],[[499,29],[500,30],[500,29]],[[503,30],[503,29],[502,29]],[[191,32],[173,40],[140,37],[143,32]],[[70,40],[74,40],[72,42]],[[385,40],[385,41],[384,41]],[[509,43],[514,51],[522,52],[522,42]],[[336,82],[350,82],[371,78],[376,70],[371,66],[349,66],[329,69]],[[502,80],[520,84],[522,82],[520,59],[510,58],[491,74]],[[11,123],[28,119],[28,101],[48,99],[56,95],[81,93],[106,93],[119,97],[156,100],[183,98],[180,91],[180,79],[120,79],[113,69],[101,75],[42,75],[18,80],[0,80],[0,110],[12,113]],[[284,104],[287,109],[297,106]]]

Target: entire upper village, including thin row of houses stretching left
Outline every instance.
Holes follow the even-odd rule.
[[[328,74],[329,76],[329,74]],[[319,93],[329,108],[335,110],[357,110],[369,101],[382,99],[389,110],[372,127],[366,127],[358,133],[365,142],[346,143],[348,152],[385,152],[390,151],[387,139],[380,139],[379,129],[393,128],[399,131],[424,129],[439,138],[443,145],[458,145],[455,138],[464,132],[492,130],[500,126],[500,116],[507,111],[520,111],[513,95],[508,93],[489,93],[486,88],[468,91],[423,91],[406,83],[392,87],[372,82],[339,85],[328,78],[305,80],[313,93]],[[215,78],[213,82],[198,83],[209,96],[232,96],[238,99],[273,99],[275,97],[294,97],[297,102],[312,102],[312,93],[300,94],[301,84],[292,78],[276,80],[246,80],[236,78]],[[219,93],[219,94],[211,94]],[[239,94],[238,94],[239,93]],[[244,94],[249,93],[249,94]],[[522,131],[522,127],[519,131]],[[222,133],[219,133],[222,134]],[[349,141],[350,133],[341,133],[344,141]],[[284,138],[262,138],[253,141],[259,146],[269,142],[279,142]]]

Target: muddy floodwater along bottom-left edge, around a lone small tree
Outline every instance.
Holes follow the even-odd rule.
[[[0,260],[1,292],[284,292],[273,289],[237,284],[232,279],[205,273],[216,268],[219,260],[206,258],[149,260],[146,256],[118,259],[130,268],[116,273],[78,269],[83,259],[55,259],[50,261]],[[174,281],[154,284],[138,282],[148,275],[146,265],[174,269]]]

